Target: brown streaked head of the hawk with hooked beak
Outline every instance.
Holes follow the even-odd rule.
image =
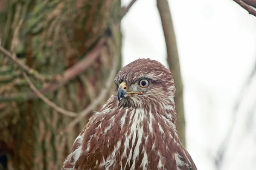
[[[137,59],[116,75],[116,99],[125,107],[162,105],[173,100],[175,87],[171,71],[160,62]],[[158,102],[158,103],[156,103]]]

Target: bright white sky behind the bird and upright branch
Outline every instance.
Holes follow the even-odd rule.
[[[129,2],[122,0],[122,5]],[[233,0],[169,0],[169,5],[184,84],[187,149],[198,170],[215,170],[212,156],[227,134],[234,102],[255,67],[256,17]],[[167,66],[156,0],[137,0],[122,20],[122,33],[122,65],[137,58],[151,58]],[[247,95],[256,96],[256,81],[253,85]],[[250,106],[256,103],[253,96]],[[244,104],[239,113],[248,111],[249,105]],[[229,145],[221,170],[256,169],[256,137],[243,136],[246,114],[239,115],[232,133],[234,142]],[[239,138],[244,140],[238,143]],[[245,152],[246,146],[252,146],[254,152],[247,153],[250,148]]]

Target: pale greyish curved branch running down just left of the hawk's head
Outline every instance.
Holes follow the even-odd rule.
[[[106,80],[105,88],[100,92],[99,96],[96,97],[94,102],[92,102],[90,105],[87,106],[83,111],[79,113],[79,116],[74,119],[72,122],[70,122],[67,127],[61,131],[58,135],[63,135],[65,131],[68,131],[71,129],[71,127],[75,126],[77,123],[81,121],[81,119],[84,119],[84,117],[88,116],[88,114],[93,111],[93,108],[95,108],[97,105],[101,104],[102,101],[105,99],[106,95],[108,94],[108,91],[111,89],[111,85],[113,82],[113,79],[116,76],[116,69],[117,69],[117,57],[114,57],[113,59],[113,67],[112,70]]]

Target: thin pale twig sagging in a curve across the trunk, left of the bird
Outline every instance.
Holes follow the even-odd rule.
[[[51,102],[49,99],[47,99],[43,94],[41,94],[38,89],[35,87],[35,85],[33,85],[33,83],[31,82],[31,80],[29,79],[29,77],[26,75],[25,72],[22,73],[24,79],[26,80],[26,82],[29,84],[29,87],[35,92],[35,94],[42,99],[48,106],[50,106],[51,108],[55,109],[56,111],[58,111],[59,113],[62,113],[65,116],[70,116],[70,117],[76,117],[78,114],[72,111],[67,111],[63,108],[58,107],[57,105],[55,105],[55,103]]]

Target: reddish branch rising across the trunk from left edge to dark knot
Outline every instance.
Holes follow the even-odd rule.
[[[61,86],[65,85],[70,79],[73,79],[79,74],[81,74],[82,72],[84,72],[99,57],[99,53],[102,47],[105,45],[106,41],[107,41],[107,37],[102,37],[102,39],[99,40],[99,43],[93,48],[92,51],[90,51],[86,56],[84,56],[83,59],[81,59],[75,65],[73,65],[72,67],[64,71],[64,74],[63,74],[64,78],[62,81],[47,85],[45,88],[39,90],[40,93],[44,95],[49,92],[55,91]],[[25,101],[25,100],[36,99],[36,98],[38,98],[38,96],[35,95],[34,93],[29,93],[29,94],[22,93],[22,94],[15,94],[13,96],[0,96],[0,101],[5,101],[5,102],[17,101],[17,100]]]

